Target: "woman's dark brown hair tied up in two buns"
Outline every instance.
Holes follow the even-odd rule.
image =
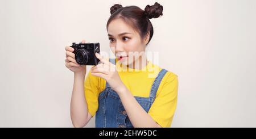
[[[150,42],[154,30],[149,19],[158,18],[163,15],[163,6],[155,2],[154,5],[147,5],[144,10],[138,6],[126,6],[115,4],[110,8],[110,17],[106,25],[107,30],[109,23],[114,19],[123,19],[124,22],[130,24],[136,31],[139,32],[141,38],[146,37],[147,33],[150,32]],[[147,43],[147,44],[148,44]]]

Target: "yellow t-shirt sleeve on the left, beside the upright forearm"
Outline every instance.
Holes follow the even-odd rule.
[[[98,78],[99,77],[93,76],[89,70],[84,82],[85,99],[87,102],[88,111],[92,116],[95,115],[98,109],[98,95],[100,94],[100,82]]]

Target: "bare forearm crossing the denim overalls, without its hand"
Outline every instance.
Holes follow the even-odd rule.
[[[135,128],[160,128],[161,126],[157,124],[154,119],[141,107],[141,105],[137,102],[131,92],[127,89],[126,86],[120,86],[115,90],[123,107],[126,110],[127,115]]]

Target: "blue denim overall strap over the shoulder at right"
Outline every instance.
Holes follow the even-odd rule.
[[[151,86],[150,98],[153,98],[155,100],[155,96],[156,96],[156,92],[158,91],[158,87],[166,73],[167,73],[166,69],[162,69],[158,73],[158,76],[155,78],[155,81],[154,81],[153,85]]]

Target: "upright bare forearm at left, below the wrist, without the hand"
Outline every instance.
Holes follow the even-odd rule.
[[[71,97],[71,120],[74,127],[84,127],[92,118],[84,95],[85,73],[74,74],[74,85]]]

